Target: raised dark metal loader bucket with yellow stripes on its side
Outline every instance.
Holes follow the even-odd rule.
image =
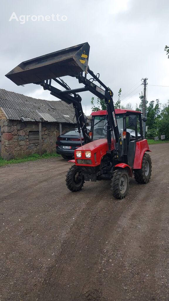
[[[22,62],[5,76],[20,85],[41,82],[60,76],[76,76],[87,71],[88,43],[65,48]]]

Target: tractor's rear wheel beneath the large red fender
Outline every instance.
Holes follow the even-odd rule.
[[[140,184],[146,184],[151,178],[152,163],[149,154],[144,154],[141,169],[134,169],[134,178]]]

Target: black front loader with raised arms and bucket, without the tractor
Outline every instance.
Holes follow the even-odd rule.
[[[17,85],[25,85],[34,83],[41,85],[45,90],[49,90],[51,95],[67,102],[72,103],[75,108],[76,121],[78,132],[82,130],[84,142],[88,143],[90,137],[87,132],[84,114],[81,106],[81,97],[79,92],[90,91],[98,98],[104,99],[107,105],[107,143],[109,152],[111,153],[112,131],[115,135],[115,150],[119,153],[119,131],[115,116],[113,104],[113,92],[95,75],[88,67],[90,46],[88,43],[75,45],[65,48],[60,51],[52,52],[34,59],[24,61],[11,70],[6,76]],[[84,73],[84,75],[83,75]],[[92,76],[87,79],[87,74]],[[82,88],[70,89],[69,86],[60,79],[61,76],[73,76],[78,79],[79,83],[84,84]],[[66,90],[60,89],[51,85],[51,80],[59,83]],[[49,82],[48,82],[49,81]],[[96,85],[97,82],[101,85]],[[81,137],[81,136],[80,136]]]

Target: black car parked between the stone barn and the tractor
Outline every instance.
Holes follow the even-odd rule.
[[[90,132],[90,126],[87,126]],[[83,134],[81,132],[82,145],[84,144]],[[72,129],[57,137],[56,153],[62,155],[64,159],[72,159],[74,150],[81,146],[78,129]]]

